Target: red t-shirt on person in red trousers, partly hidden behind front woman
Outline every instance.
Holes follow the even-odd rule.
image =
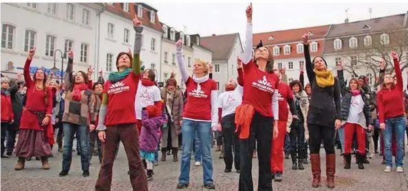
[[[278,100],[279,100],[279,120],[281,121],[288,121],[288,99],[293,99],[293,92],[290,90],[288,84],[280,82],[278,84]]]

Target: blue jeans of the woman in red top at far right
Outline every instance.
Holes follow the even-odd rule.
[[[399,116],[396,118],[385,118],[385,130],[383,130],[384,136],[384,156],[387,166],[392,166],[392,153],[391,153],[391,141],[392,135],[395,133],[397,153],[396,153],[396,166],[402,167],[404,160],[404,142],[405,142],[405,117]]]

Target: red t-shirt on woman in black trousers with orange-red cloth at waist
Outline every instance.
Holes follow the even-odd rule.
[[[253,105],[255,111],[263,116],[273,117],[272,96],[279,83],[275,73],[260,71],[250,60],[242,64],[244,68],[244,97],[242,103]]]

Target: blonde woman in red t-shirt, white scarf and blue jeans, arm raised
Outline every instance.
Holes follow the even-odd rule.
[[[193,77],[189,77],[182,58],[182,40],[175,44],[178,68],[182,75],[182,82],[186,84],[187,102],[184,107],[182,121],[182,164],[178,189],[189,186],[190,181],[190,157],[193,149],[193,141],[197,132],[202,152],[202,168],[204,171],[204,187],[215,189],[213,182],[213,161],[211,158],[211,127],[217,127],[215,103],[218,97],[217,84],[210,79],[208,62],[198,59],[194,62]]]

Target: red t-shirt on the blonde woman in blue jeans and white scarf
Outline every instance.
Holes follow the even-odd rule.
[[[200,84],[189,77],[186,81],[187,103],[183,118],[211,121],[211,91],[217,90],[213,79]]]

